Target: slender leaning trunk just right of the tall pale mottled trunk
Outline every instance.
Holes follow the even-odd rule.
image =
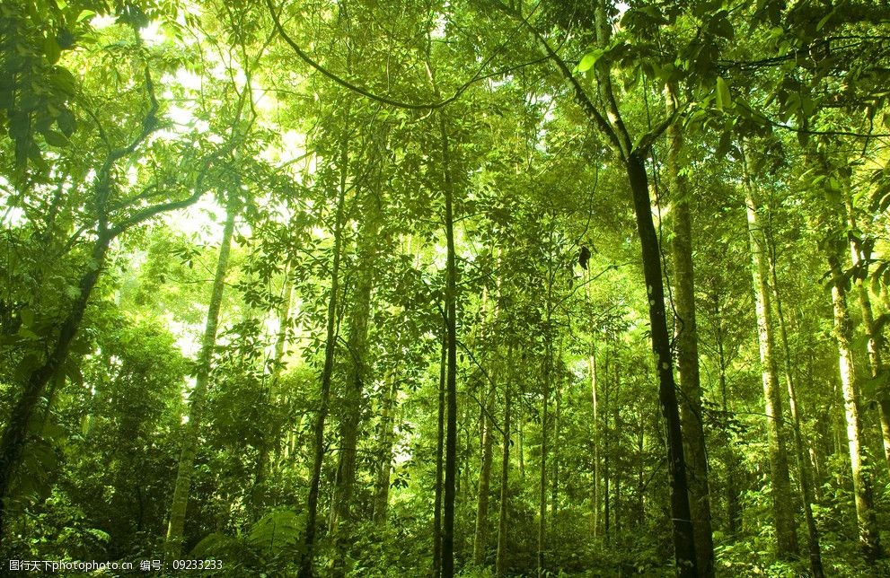
[[[810,570],[814,578],[823,578],[822,549],[819,546],[819,529],[815,525],[813,517],[813,472],[810,470],[809,457],[806,455],[806,443],[800,430],[803,421],[801,410],[797,404],[797,388],[794,382],[794,372],[791,366],[791,347],[788,341],[788,328],[785,323],[785,312],[782,311],[781,293],[779,291],[779,276],[776,275],[776,246],[771,235],[767,241],[770,243],[770,275],[772,278],[772,290],[776,297],[776,313],[779,316],[779,332],[782,340],[782,351],[785,354],[785,381],[788,386],[789,407],[791,409],[791,426],[794,431],[794,444],[797,450],[797,471],[800,473],[800,494],[804,504],[804,517],[806,519],[806,533],[809,539]]]

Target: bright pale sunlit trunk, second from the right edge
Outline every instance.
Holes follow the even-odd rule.
[[[862,423],[859,421],[859,384],[850,350],[852,327],[847,310],[846,279],[841,267],[842,250],[833,239],[824,241],[826,257],[832,276],[832,304],[834,309],[834,337],[837,339],[843,390],[844,416],[847,424],[847,447],[853,474],[853,495],[856,520],[859,525],[859,547],[870,560],[883,556],[877,529],[873,495],[874,480],[868,453],[862,444]]]

